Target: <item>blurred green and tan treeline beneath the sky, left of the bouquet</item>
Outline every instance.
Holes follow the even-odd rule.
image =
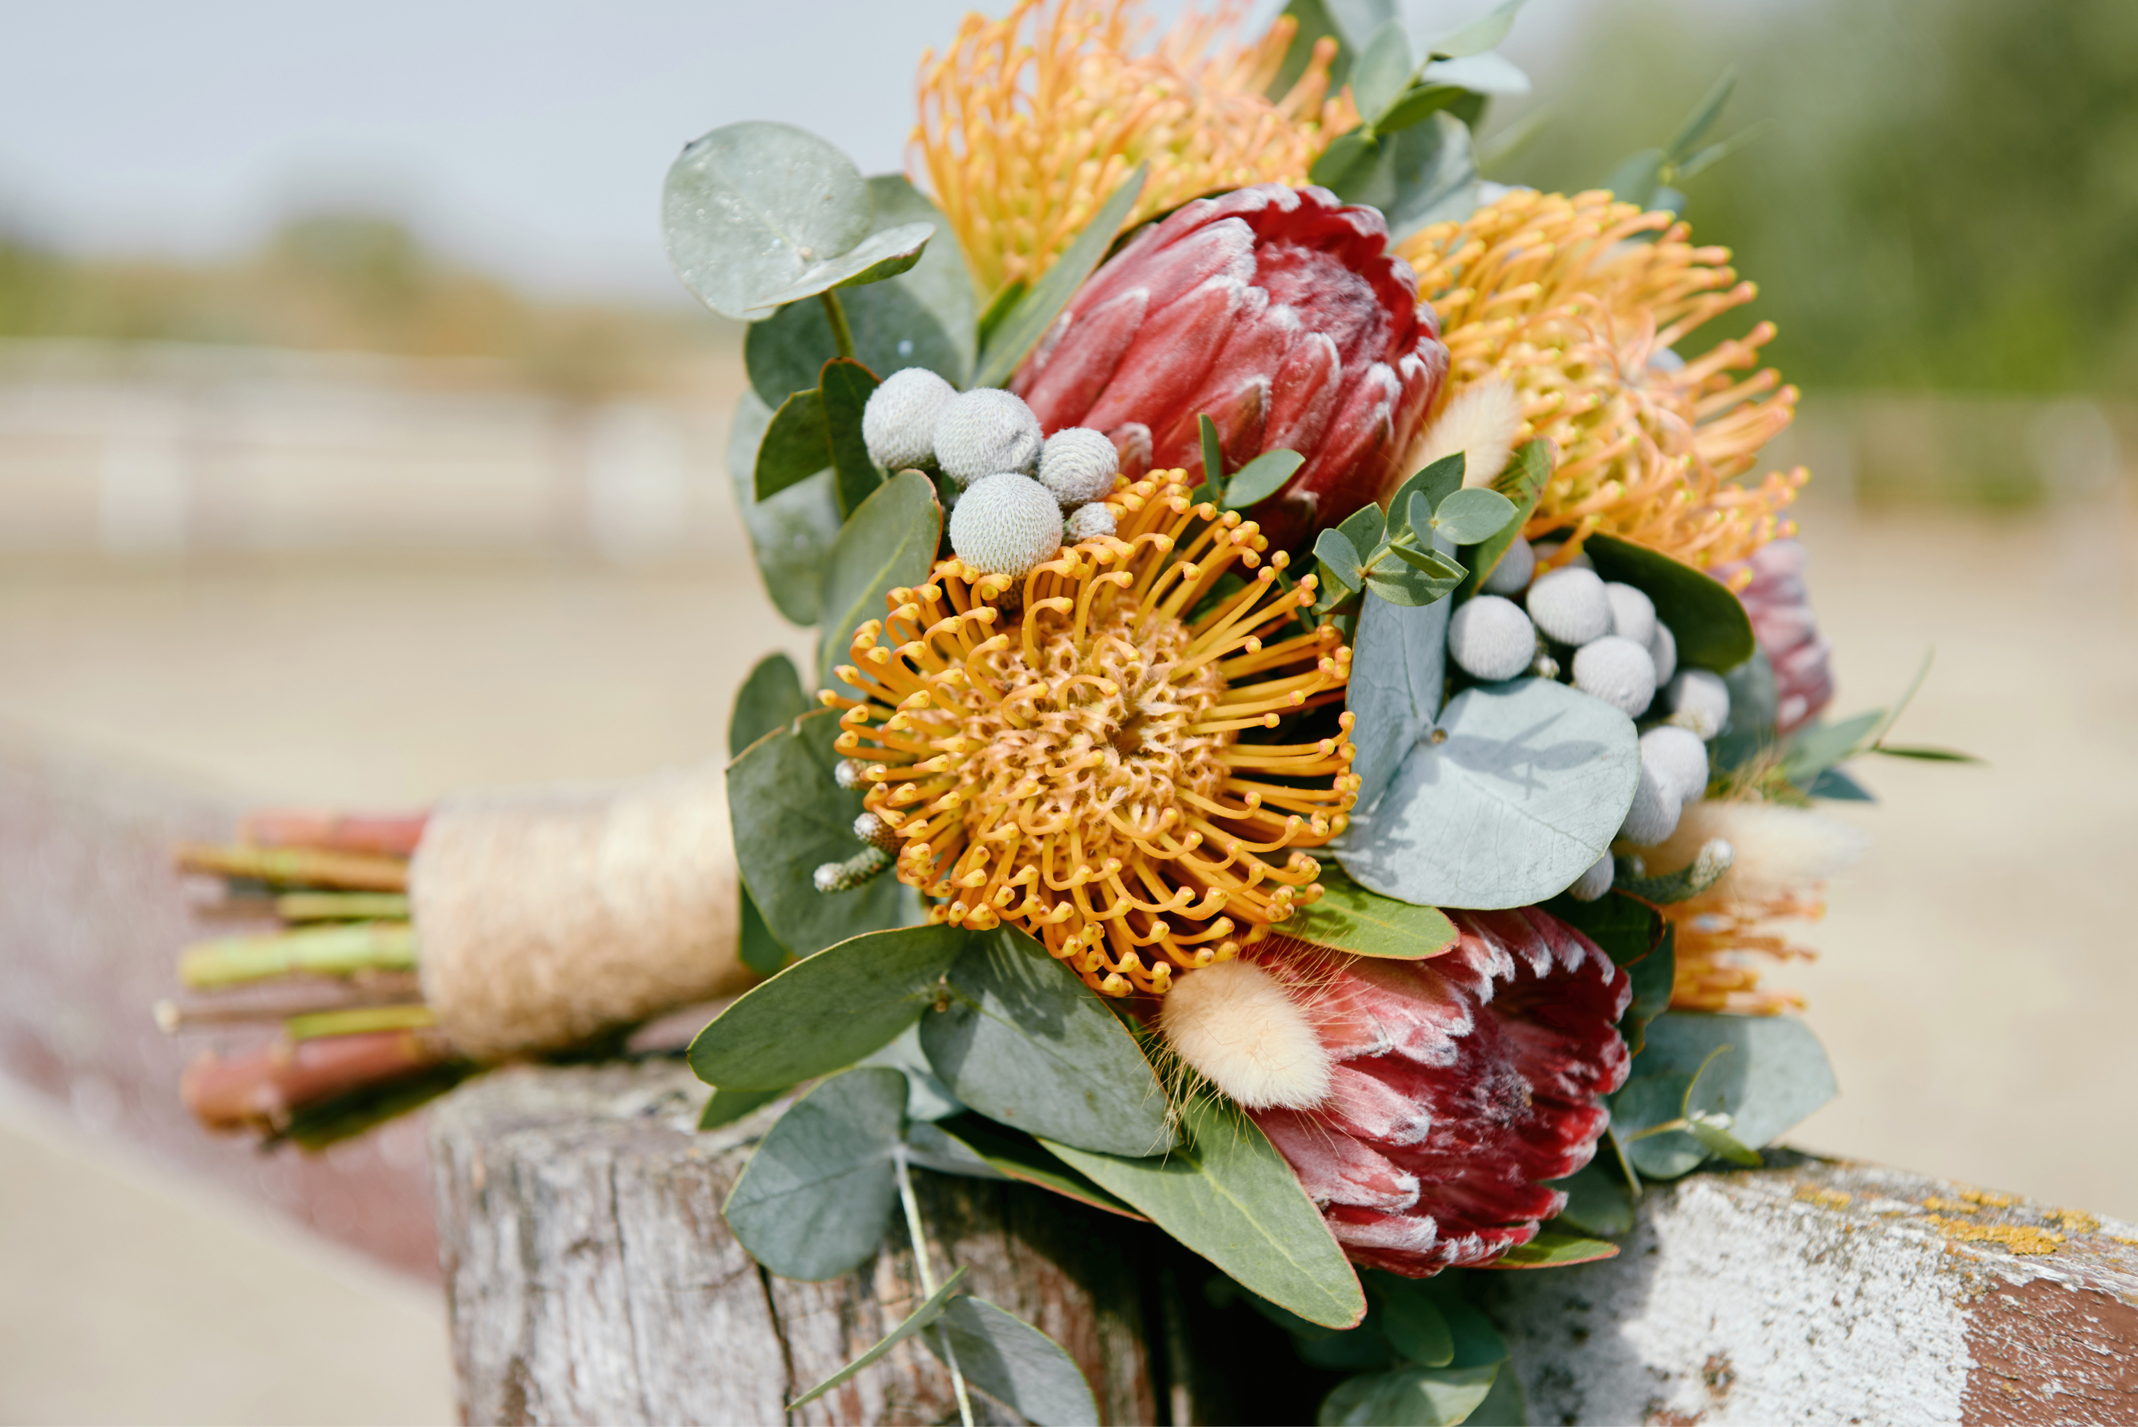
[[[530,301],[425,252],[389,218],[312,214],[220,265],[77,261],[0,233],[0,338],[487,357],[534,385],[599,395],[733,352],[740,327],[680,303],[669,314]]]

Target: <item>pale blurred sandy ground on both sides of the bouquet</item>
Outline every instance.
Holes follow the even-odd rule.
[[[1896,737],[1990,763],[1879,760],[1862,775],[1886,801],[1837,814],[1873,850],[1804,931],[1822,959],[1775,978],[1811,998],[1843,1096],[1794,1139],[2138,1218],[2129,515],[1804,517],[1839,711],[1894,696],[1935,645]],[[0,737],[244,797],[413,805],[716,754],[772,647],[806,654],[808,637],[746,566],[17,568],[0,573]],[[0,1320],[0,1418],[143,1416],[148,1391],[169,1421],[447,1412],[436,1318],[406,1295],[286,1237],[201,1228],[184,1198],[19,1134],[0,1136],[0,1186],[9,1277],[58,1284]],[[340,1367],[280,1357],[301,1316],[278,1292],[342,1314]],[[257,1331],[203,1322],[203,1301],[259,1310]],[[90,1322],[162,1344],[162,1367],[83,1378],[96,1359],[68,1324]],[[314,1365],[312,1389],[291,1363]],[[327,1401],[340,1382],[357,1386]]]

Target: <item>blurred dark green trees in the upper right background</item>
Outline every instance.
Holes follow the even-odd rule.
[[[1490,177],[1599,186],[1734,64],[1715,132],[1766,128],[1685,216],[1790,380],[2138,389],[2138,0],[1608,0],[1586,28]]]

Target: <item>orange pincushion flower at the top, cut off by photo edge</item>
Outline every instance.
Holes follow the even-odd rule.
[[[1003,19],[966,15],[921,56],[913,130],[926,175],[986,293],[1035,282],[1140,162],[1144,192],[1122,229],[1217,188],[1304,184],[1330,139],[1358,124],[1328,100],[1334,41],[1276,103],[1298,21],[1229,43],[1238,6],[1189,11],[1148,53],[1140,0],[1022,0]]]

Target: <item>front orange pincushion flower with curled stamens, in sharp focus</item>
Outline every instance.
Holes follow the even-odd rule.
[[[1304,848],[1358,788],[1349,714],[1279,731],[1349,681],[1336,630],[1298,622],[1313,577],[1187,493],[1178,470],[1116,485],[1116,532],[1022,581],[939,562],[853,634],[838,677],[866,699],[823,694],[930,919],[1016,923],[1105,995],[1159,995],[1315,901]]]

